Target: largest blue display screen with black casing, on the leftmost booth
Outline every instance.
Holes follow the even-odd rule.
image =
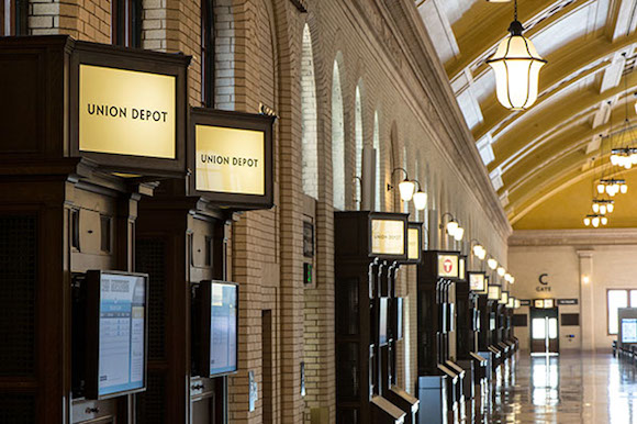
[[[86,281],[87,399],[145,390],[148,276],[91,270]]]

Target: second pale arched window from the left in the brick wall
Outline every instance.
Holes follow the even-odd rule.
[[[338,62],[334,60],[332,75],[332,175],[334,208],[345,210],[345,119]]]

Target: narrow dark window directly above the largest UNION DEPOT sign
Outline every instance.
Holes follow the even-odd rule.
[[[142,0],[111,0],[111,43],[142,46]]]

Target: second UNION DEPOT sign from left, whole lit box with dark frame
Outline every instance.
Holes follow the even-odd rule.
[[[191,110],[190,191],[232,209],[272,207],[273,116]]]

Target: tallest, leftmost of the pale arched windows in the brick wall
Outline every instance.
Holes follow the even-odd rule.
[[[318,198],[318,152],[316,136],[316,86],[310,27],[303,29],[301,51],[301,140],[303,154],[303,192]]]

